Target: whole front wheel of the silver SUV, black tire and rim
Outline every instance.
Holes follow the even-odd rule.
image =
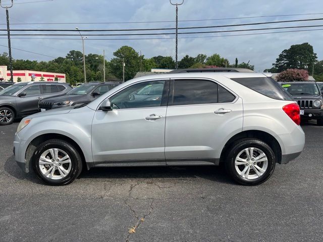
[[[81,173],[82,159],[70,143],[52,139],[36,148],[32,166],[45,183],[54,186],[67,185]]]

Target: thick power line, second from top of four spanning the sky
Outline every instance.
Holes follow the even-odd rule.
[[[277,23],[292,23],[292,22],[303,22],[303,21],[318,21],[318,19],[298,19],[298,20],[283,20],[283,21],[272,21],[272,22],[258,22],[258,23],[247,23],[247,24],[230,24],[230,25],[213,25],[213,26],[195,26],[195,27],[181,27],[178,29],[204,29],[204,28],[221,28],[221,27],[237,27],[237,26],[249,26],[249,25],[260,25],[260,24],[277,24]],[[52,32],[110,32],[110,31],[148,31],[148,30],[174,30],[176,28],[148,28],[148,29],[11,29],[11,31],[52,31]],[[7,29],[0,29],[0,31],[7,31]]]

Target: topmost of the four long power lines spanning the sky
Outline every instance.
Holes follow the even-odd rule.
[[[50,0],[52,1],[52,0]],[[42,2],[42,1],[41,1]],[[46,1],[44,1],[46,2]],[[178,22],[199,22],[199,21],[214,21],[214,20],[232,20],[232,19],[253,19],[253,18],[270,18],[270,17],[290,17],[290,16],[304,16],[304,15],[322,15],[323,13],[308,13],[308,14],[284,14],[284,15],[263,15],[263,16],[250,16],[250,17],[234,17],[234,18],[219,18],[219,19],[191,19],[179,20]],[[71,22],[71,23],[13,23],[11,25],[44,25],[44,24],[147,24],[147,23],[173,23],[173,20],[167,21],[132,21],[132,22]],[[0,24],[4,25],[4,24]]]

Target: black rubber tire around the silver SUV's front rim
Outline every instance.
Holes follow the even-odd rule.
[[[71,165],[71,168],[69,173],[65,177],[52,179],[45,176],[44,173],[41,171],[41,168],[39,166],[39,158],[48,149],[60,149],[70,157],[71,163],[67,164],[68,165],[67,167]],[[63,153],[58,153],[58,154],[63,154]],[[52,157],[49,157],[49,159],[52,160]],[[40,179],[42,179],[45,183],[52,186],[68,185],[72,183],[72,181],[75,180],[82,171],[82,158],[79,152],[77,151],[77,149],[70,143],[59,139],[52,139],[41,143],[36,148],[31,162],[32,162],[33,171],[37,174],[37,176]],[[63,166],[63,164],[61,165]],[[51,166],[54,166],[54,165],[50,165],[50,166],[48,165],[49,168]],[[46,167],[43,167],[42,170],[46,170],[46,169],[49,170],[49,168],[47,169]],[[59,170],[58,164],[56,164],[56,167],[53,167],[53,170],[55,170],[53,175],[56,174],[56,177],[60,177],[61,171]]]

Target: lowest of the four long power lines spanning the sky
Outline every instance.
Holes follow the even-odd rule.
[[[323,29],[305,29],[305,30],[290,30],[290,31],[278,31],[278,32],[264,32],[264,33],[250,33],[250,34],[231,34],[231,35],[210,35],[210,36],[186,36],[179,37],[179,39],[189,39],[189,38],[216,38],[216,37],[230,37],[230,36],[245,36],[245,35],[262,35],[262,34],[277,34],[277,33],[292,33],[292,32],[306,32],[306,31],[317,31]],[[6,39],[0,37],[0,39]],[[52,39],[52,40],[79,40],[79,38],[13,38],[13,39]],[[158,37],[158,38],[95,38],[87,39],[89,40],[150,40],[150,39],[175,39],[175,37]],[[50,56],[51,57],[51,56]]]

